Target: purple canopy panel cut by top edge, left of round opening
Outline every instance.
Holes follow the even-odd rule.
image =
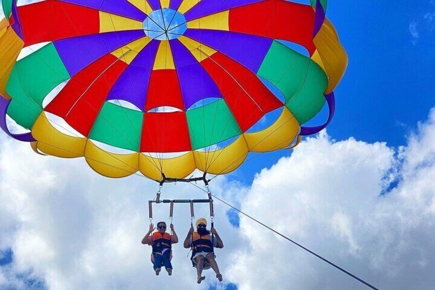
[[[124,16],[137,21],[144,21],[147,15],[127,0],[60,0],[104,12]]]

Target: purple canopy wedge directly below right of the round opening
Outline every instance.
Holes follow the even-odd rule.
[[[186,109],[202,99],[222,98],[208,73],[180,41],[171,41],[171,50]]]

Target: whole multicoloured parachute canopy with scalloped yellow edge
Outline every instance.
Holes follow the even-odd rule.
[[[2,6],[0,126],[107,177],[223,174],[249,152],[294,146],[330,122],[347,65],[326,0]],[[302,126],[325,103],[327,122]],[[273,124],[251,130],[277,110]],[[11,133],[10,119],[29,131]]]

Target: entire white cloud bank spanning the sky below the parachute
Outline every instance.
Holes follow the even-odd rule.
[[[385,143],[309,138],[291,157],[263,169],[244,187],[216,178],[216,195],[382,289],[430,289],[435,282],[435,110],[395,150]],[[24,288],[19,275],[43,279],[53,289],[197,287],[181,245],[174,275],[155,277],[150,248],[141,245],[147,200],[157,185],[132,176],[96,175],[83,160],[41,157],[27,144],[0,137],[0,249],[14,261],[0,267],[0,288]],[[387,192],[392,180],[396,188]],[[165,198],[203,198],[186,184],[165,185]],[[240,289],[364,289],[337,269],[241,217],[240,230],[215,204],[225,248],[217,261],[226,282]],[[156,206],[155,220],[169,208]],[[207,216],[208,207],[196,207]],[[176,206],[183,240],[188,206]],[[18,275],[18,276],[17,276]],[[18,278],[17,278],[18,277]],[[204,287],[215,283],[207,272]]]

